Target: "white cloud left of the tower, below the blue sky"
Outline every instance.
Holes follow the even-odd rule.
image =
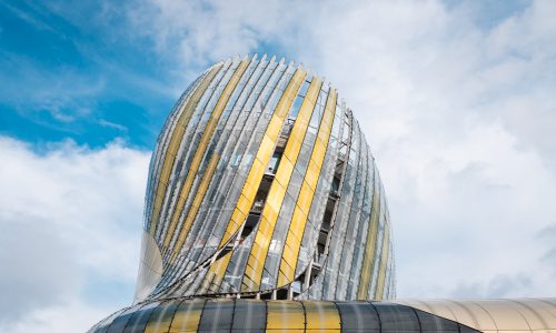
[[[129,304],[149,153],[0,137],[0,331],[85,331]]]

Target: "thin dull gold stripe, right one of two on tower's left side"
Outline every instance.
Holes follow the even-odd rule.
[[[228,100],[230,99],[231,93],[236,89],[236,85],[239,82],[239,79],[244,74],[245,70],[247,69],[247,65],[249,64],[249,60],[242,60],[241,63],[238,65],[234,74],[231,75],[230,80],[226,84],[226,88],[224,89],[220,98],[218,99],[218,102],[215,105],[215,109],[212,110],[212,113],[210,114],[210,119],[207,122],[207,125],[205,127],[205,131],[202,132],[201,140],[199,142],[199,145],[197,147],[197,150],[195,151],[193,159],[191,161],[191,164],[189,165],[186,181],[183,182],[181,186],[181,191],[179,192],[179,199],[178,203],[176,204],[176,209],[172,212],[172,219],[170,222],[170,225],[168,226],[168,232],[166,233],[165,236],[165,242],[163,246],[168,248],[173,232],[176,231],[176,226],[178,224],[178,220],[181,215],[181,211],[183,210],[183,205],[186,203],[187,196],[189,195],[189,192],[191,190],[191,185],[193,183],[195,176],[197,174],[197,171],[199,169],[199,165],[202,162],[202,157],[206,153],[207,147],[210,143],[210,139],[212,138],[212,133],[215,132],[215,129],[218,124],[218,120],[220,119],[220,115],[222,114],[224,108],[228,103]]]

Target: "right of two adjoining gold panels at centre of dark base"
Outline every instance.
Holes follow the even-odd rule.
[[[304,302],[307,330],[341,330],[340,314],[332,302]]]

